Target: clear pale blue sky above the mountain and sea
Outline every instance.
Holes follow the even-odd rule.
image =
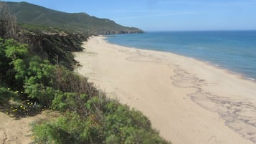
[[[17,0],[11,0],[17,1]],[[146,31],[256,29],[256,0],[25,0]]]

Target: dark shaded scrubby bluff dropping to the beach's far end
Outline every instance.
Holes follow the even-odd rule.
[[[27,32],[20,37],[26,37],[26,39],[19,39],[19,41],[29,44],[33,54],[48,59],[52,64],[62,64],[70,69],[77,63],[71,52],[82,51],[82,41],[87,39],[82,34],[40,31]]]

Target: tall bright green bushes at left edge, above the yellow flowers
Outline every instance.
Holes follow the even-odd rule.
[[[52,84],[56,67],[29,54],[29,47],[14,39],[0,39],[0,48],[1,85],[24,92],[24,99],[28,96],[41,105],[49,105],[54,96]]]

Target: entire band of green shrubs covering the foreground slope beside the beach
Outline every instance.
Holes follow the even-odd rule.
[[[62,113],[34,124],[35,143],[168,143],[141,112],[109,100],[85,77],[28,49],[0,39],[0,105],[16,101],[6,113],[41,107]]]

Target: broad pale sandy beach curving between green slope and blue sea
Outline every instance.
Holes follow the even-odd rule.
[[[75,52],[108,97],[141,110],[174,144],[256,143],[256,84],[189,57],[91,37]]]

